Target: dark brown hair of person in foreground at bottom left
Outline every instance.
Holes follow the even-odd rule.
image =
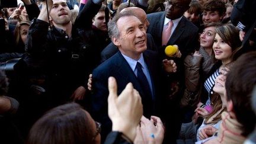
[[[90,144],[95,143],[94,135],[88,113],[79,104],[69,103],[53,108],[37,120],[27,144]]]

